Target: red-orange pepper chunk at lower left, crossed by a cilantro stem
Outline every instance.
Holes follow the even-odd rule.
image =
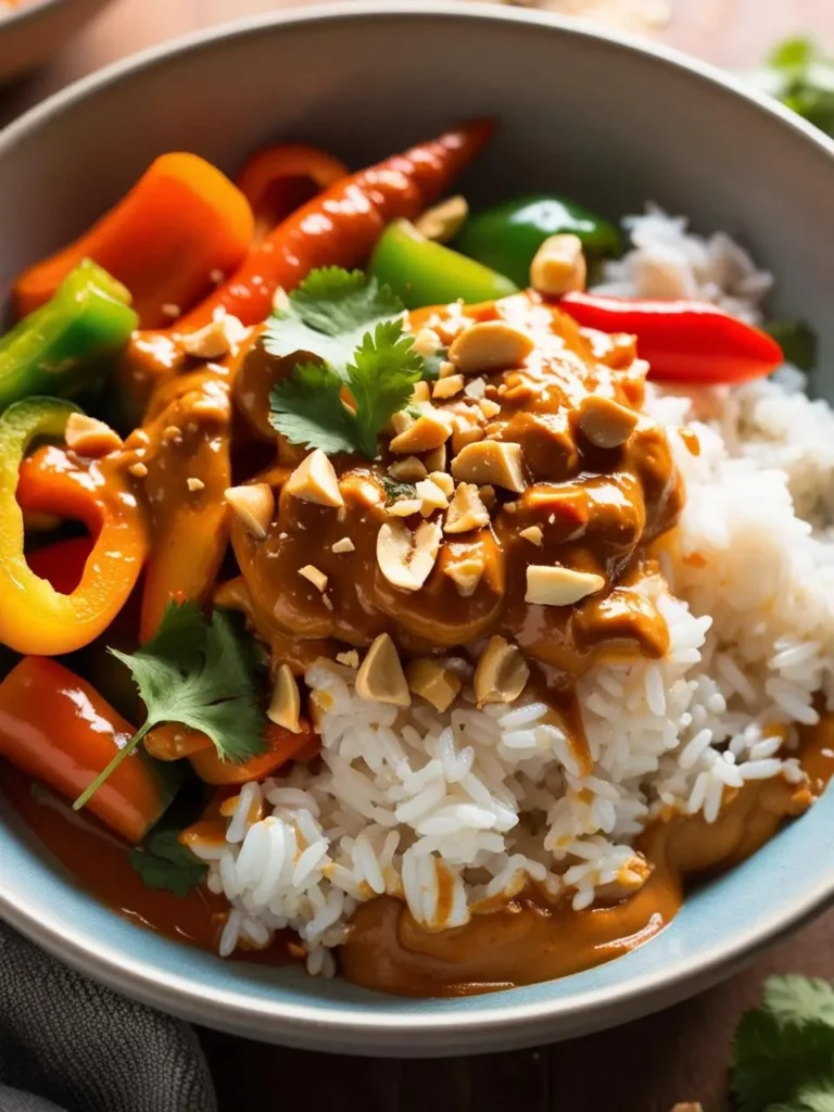
[[[75,800],[107,767],[133,728],[57,661],[24,657],[0,683],[0,756]],[[88,808],[130,842],[159,821],[181,783],[179,770],[131,754]]]

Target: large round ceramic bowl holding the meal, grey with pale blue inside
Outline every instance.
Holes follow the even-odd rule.
[[[451,121],[500,132],[464,183],[542,187],[610,215],[654,198],[739,236],[834,365],[834,145],[685,58],[477,4],[305,9],[120,63],[0,137],[0,284],[80,231],[158,153],[232,168],[258,143],[321,143],[359,166]],[[567,1037],[702,990],[834,894],[834,795],[701,888],[672,926],[599,969],[461,1001],[408,1001],[297,971],[222,963],[138,930],[73,884],[0,801],[0,914],[91,976],[252,1037],[368,1054],[450,1054]]]

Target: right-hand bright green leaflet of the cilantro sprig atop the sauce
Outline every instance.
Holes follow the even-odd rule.
[[[366,334],[347,368],[347,383],[356,403],[359,448],[368,459],[377,451],[377,437],[391,414],[406,405],[419,381],[421,359],[399,320],[377,325]]]

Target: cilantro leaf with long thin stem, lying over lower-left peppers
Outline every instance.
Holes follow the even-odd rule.
[[[73,803],[78,811],[137,747],[149,729],[176,722],[208,734],[224,761],[262,753],[265,716],[256,687],[251,639],[216,609],[211,620],[193,603],[169,603],[157,634],[137,653],[110,652],[132,673],[147,707],[145,724]]]

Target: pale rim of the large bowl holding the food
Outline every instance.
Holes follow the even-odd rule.
[[[26,14],[31,17],[43,7],[60,2],[62,0],[43,0]],[[212,47],[218,40],[246,37],[261,29],[297,23],[395,21],[404,17],[423,16],[453,21],[486,20],[494,23],[536,26],[544,31],[553,30],[577,39],[602,41],[617,51],[636,51],[673,70],[684,70],[704,85],[717,87],[731,97],[745,100],[759,111],[781,120],[792,131],[803,135],[834,167],[834,141],[777,101],[747,88],[729,72],[674,48],[643,40],[636,36],[612,32],[576,18],[564,18],[532,9],[498,7],[476,0],[443,0],[443,2],[339,0],[337,3],[311,4],[246,17],[180,36],[112,62],[29,109],[0,132],[0,158],[8,156],[18,142],[37,132],[42,123],[60,117],[64,110],[88,96],[100,93],[125,77],[151,69],[175,57]],[[346,1002],[339,1002],[337,1005],[298,1004],[281,1000],[279,996],[269,1001],[257,1000],[247,995],[245,991],[218,989],[209,982],[197,982],[191,976],[162,972],[152,962],[127,956],[117,947],[92,939],[88,932],[76,929],[71,923],[57,925],[47,921],[28,900],[26,893],[17,891],[10,894],[3,891],[0,883],[0,915],[7,922],[82,973],[103,981],[133,999],[196,1022],[208,1022],[250,1036],[252,1036],[252,1021],[260,1021],[264,1026],[258,1029],[259,1037],[296,1045],[322,1046],[329,1042],[328,1035],[332,1035],[335,1036],[332,1049],[361,1052],[360,1045],[355,1040],[373,1036],[376,1042],[369,1043],[365,1053],[376,1054],[386,1051],[407,1053],[407,1048],[398,1042],[404,1035],[416,1039],[411,1053],[421,1052],[420,1037],[424,1044],[429,1046],[428,1052],[443,1052],[440,1043],[430,1040],[453,1030],[457,1046],[447,1053],[459,1050],[460,1044],[467,1039],[479,1040],[490,1032],[493,1035],[507,1034],[510,1029],[512,1037],[517,1040],[516,1045],[523,1044],[525,1040],[532,1042],[536,1035],[544,1039],[549,1034],[552,1037],[554,1032],[547,1031],[548,1023],[566,1025],[570,1020],[575,1020],[578,1022],[575,1022],[570,1030],[565,1032],[566,1034],[588,1032],[610,1022],[604,1013],[615,1002],[623,1007],[619,1020],[644,1014],[684,999],[688,994],[688,983],[696,976],[704,987],[717,982],[724,970],[742,964],[758,950],[811,919],[832,902],[834,902],[834,874],[824,875],[811,884],[802,898],[793,901],[788,906],[776,907],[755,925],[739,930],[726,941],[715,943],[696,964],[684,955],[662,969],[634,976],[614,989],[608,986],[585,990],[567,996],[554,996],[547,1001],[503,1004],[499,1009],[490,1004],[494,995],[486,994],[479,997],[483,1004],[469,1007],[466,1012],[448,1010],[434,1014],[426,1012],[393,1014],[381,1011],[375,1013],[367,1006],[357,1010]],[[648,1006],[646,1006],[647,1001]],[[207,1012],[209,1007],[211,1014]],[[342,1045],[337,1044],[339,1036],[345,1040]],[[497,1037],[494,1040],[484,1037],[485,1043],[490,1041],[497,1042]]]

